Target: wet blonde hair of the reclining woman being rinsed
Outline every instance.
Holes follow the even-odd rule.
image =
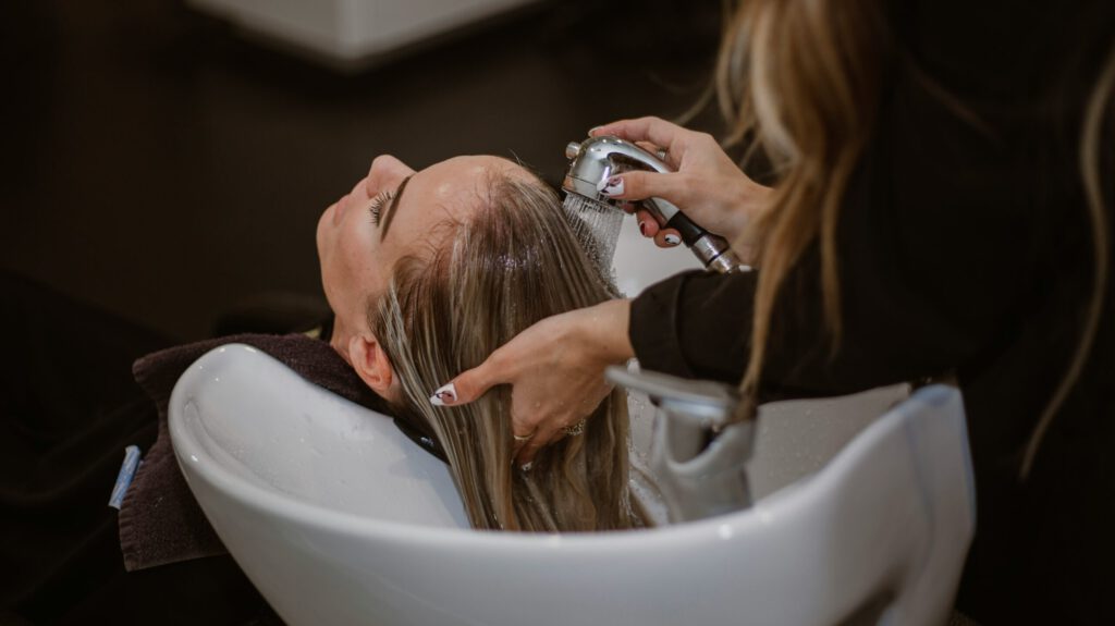
[[[372,332],[401,382],[398,417],[428,424],[446,452],[474,528],[589,531],[643,525],[628,482],[628,412],[613,391],[584,433],[512,458],[511,389],[459,407],[427,399],[458,372],[543,317],[613,296],[541,182],[492,175],[483,208],[450,242],[400,261],[369,310]]]

